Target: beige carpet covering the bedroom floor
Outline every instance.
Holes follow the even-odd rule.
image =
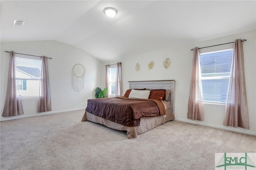
[[[138,138],[84,111],[1,122],[1,170],[214,170],[216,152],[256,152],[256,136],[170,121]]]

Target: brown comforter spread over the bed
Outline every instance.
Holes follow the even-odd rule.
[[[140,126],[142,117],[165,115],[159,100],[127,97],[88,99],[86,111],[128,127]]]

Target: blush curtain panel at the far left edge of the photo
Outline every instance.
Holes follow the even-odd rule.
[[[10,51],[10,63],[8,71],[8,83],[4,103],[3,117],[18,116],[24,114],[19,95],[18,80],[16,80],[16,56]]]

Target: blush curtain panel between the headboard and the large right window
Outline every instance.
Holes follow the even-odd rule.
[[[188,119],[204,121],[204,102],[200,68],[200,52],[194,48],[193,69],[188,99]]]

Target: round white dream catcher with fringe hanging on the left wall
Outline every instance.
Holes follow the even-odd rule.
[[[76,64],[73,67],[73,89],[74,91],[81,91],[84,89],[84,75],[85,68],[81,64]]]

